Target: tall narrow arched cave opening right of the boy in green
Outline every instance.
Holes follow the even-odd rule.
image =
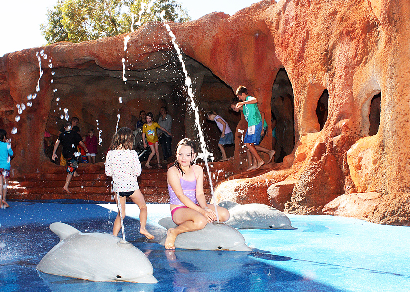
[[[272,117],[276,118],[275,162],[282,162],[295,146],[293,88],[284,68],[279,69],[272,87]]]

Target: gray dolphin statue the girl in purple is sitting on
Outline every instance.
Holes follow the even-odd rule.
[[[177,225],[170,217],[162,218],[159,225],[166,228],[175,228]],[[165,239],[159,244],[165,245]],[[175,239],[175,247],[200,250],[236,250],[252,251],[246,244],[245,238],[238,230],[223,223],[208,223],[204,229],[181,233]]]

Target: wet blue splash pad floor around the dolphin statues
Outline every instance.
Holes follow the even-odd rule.
[[[150,259],[157,284],[89,282],[38,272],[58,242],[48,226],[64,222],[82,232],[112,231],[115,204],[11,202],[0,210],[0,287],[11,291],[410,291],[410,228],[332,216],[288,215],[297,230],[239,230],[252,253],[165,251],[159,219],[169,205],[148,204],[145,241],[139,210],[127,204],[127,241]]]

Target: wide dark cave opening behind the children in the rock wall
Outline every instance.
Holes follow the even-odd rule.
[[[183,137],[196,139],[194,114],[186,106],[185,80],[176,54],[164,51],[151,55],[147,59],[156,58],[156,64],[138,64],[137,69],[129,66],[131,70],[126,71],[125,82],[122,71],[104,69],[94,61],[77,65],[76,68],[53,68],[52,87],[57,90],[50,90],[52,98],[46,124],[46,130],[52,135],[51,140],[57,139],[57,133],[65,122],[64,111],[67,111],[69,120],[74,116],[80,119],[82,136],[94,128],[95,135],[102,139],[96,159],[101,162],[105,159],[117,123],[118,128],[126,126],[134,129],[141,110],[152,112],[154,119],[158,120],[161,106],[166,106],[173,118],[172,149]],[[218,160],[221,156],[217,147],[220,133],[216,124],[206,121],[205,112],[215,110],[235,130],[240,115],[228,111],[228,103],[234,93],[196,60],[184,55],[184,62],[193,80],[193,91],[205,128],[205,141]],[[226,152],[228,157],[233,156],[234,147],[226,148]],[[162,151],[160,155],[162,158]]]

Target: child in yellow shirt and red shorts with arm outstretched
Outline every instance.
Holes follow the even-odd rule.
[[[147,137],[149,148],[151,148],[151,154],[148,156],[148,160],[147,163],[145,163],[145,166],[151,168],[152,166],[149,165],[149,162],[154,157],[154,155],[157,155],[158,168],[162,168],[162,165],[159,163],[157,129],[160,129],[161,131],[167,133],[170,137],[172,136],[172,134],[161,127],[158,123],[153,121],[154,115],[152,114],[152,112],[148,112],[145,118],[147,120],[147,123],[142,126],[142,141],[144,142],[144,148],[147,148],[147,144],[145,143],[145,137]]]

